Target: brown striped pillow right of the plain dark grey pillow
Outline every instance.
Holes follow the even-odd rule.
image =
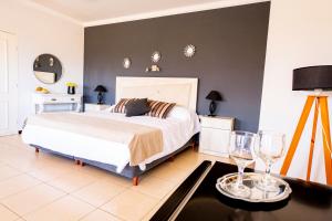
[[[159,117],[166,118],[168,113],[173,109],[176,105],[175,103],[166,103],[166,102],[158,102],[158,101],[147,101],[147,104],[151,110],[146,114],[151,117]]]

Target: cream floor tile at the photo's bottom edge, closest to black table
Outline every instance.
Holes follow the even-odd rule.
[[[127,190],[101,207],[124,220],[141,220],[158,202],[156,198],[148,197],[134,190]]]

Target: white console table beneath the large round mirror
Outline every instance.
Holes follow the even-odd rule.
[[[32,95],[34,113],[40,114],[45,109],[45,105],[64,105],[71,104],[75,112],[80,112],[82,107],[81,94],[37,94]]]

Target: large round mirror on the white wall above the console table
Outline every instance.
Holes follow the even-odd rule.
[[[34,76],[44,84],[56,83],[62,75],[62,65],[53,54],[41,54],[33,62]]]

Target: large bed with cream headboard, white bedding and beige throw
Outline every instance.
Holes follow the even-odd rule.
[[[116,77],[116,103],[121,98],[147,97],[177,105],[165,119],[149,116],[125,117],[124,114],[111,113],[110,109],[98,113],[50,113],[31,116],[22,131],[22,139],[37,151],[51,151],[74,159],[81,165],[87,164],[115,172],[133,179],[133,185],[136,186],[143,172],[195,144],[194,137],[199,133],[196,115],[197,82],[197,78],[177,77]],[[41,118],[45,118],[43,124],[33,124],[33,120]],[[128,148],[128,143],[118,138],[125,129],[118,126],[118,131],[111,130],[107,122],[136,128],[138,126],[138,129],[158,129],[163,138],[163,149],[139,158],[134,164],[135,156]],[[60,123],[63,124],[62,127],[58,125]],[[85,130],[82,129],[84,125],[89,125]],[[93,134],[92,130],[96,131]],[[120,135],[113,135],[115,133]],[[148,150],[148,144],[145,143],[146,147],[141,152]]]

